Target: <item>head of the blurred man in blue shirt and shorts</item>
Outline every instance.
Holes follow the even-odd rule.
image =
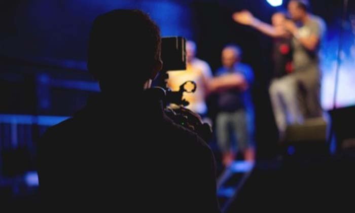
[[[222,65],[232,68],[241,59],[241,49],[237,45],[227,45],[222,50]]]

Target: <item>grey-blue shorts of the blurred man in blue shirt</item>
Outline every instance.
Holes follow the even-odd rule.
[[[222,153],[254,146],[252,116],[245,110],[219,113],[216,125],[217,143]]]

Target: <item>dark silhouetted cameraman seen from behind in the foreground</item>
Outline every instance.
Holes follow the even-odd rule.
[[[138,10],[98,16],[88,69],[101,92],[39,144],[43,207],[122,212],[219,212],[215,159],[149,89],[161,69],[158,26]]]

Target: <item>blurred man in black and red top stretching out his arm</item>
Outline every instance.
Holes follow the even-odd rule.
[[[279,132],[279,140],[285,136],[288,125],[301,123],[302,115],[297,99],[297,82],[292,69],[292,35],[286,29],[286,15],[276,12],[271,17],[272,25],[262,22],[249,11],[233,14],[233,20],[252,26],[273,38],[272,62],[273,78],[269,86],[270,100]]]

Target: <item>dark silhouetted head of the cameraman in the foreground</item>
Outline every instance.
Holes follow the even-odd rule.
[[[99,15],[90,32],[88,69],[103,93],[143,90],[162,66],[159,27],[139,10]],[[125,84],[126,85],[126,84]]]

